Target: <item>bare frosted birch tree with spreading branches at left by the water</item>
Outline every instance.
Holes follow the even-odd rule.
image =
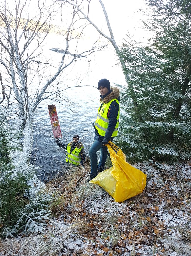
[[[1,0],[0,2],[0,80],[3,95],[1,104],[4,104],[5,96],[9,94],[18,104],[17,132],[24,133],[19,163],[29,161],[33,141],[33,113],[38,104],[66,90],[59,85],[63,70],[73,62],[84,57],[87,59],[92,52],[103,48],[98,45],[98,38],[89,49],[78,52],[78,40],[83,34],[84,26],[75,28],[77,15],[75,7],[69,10],[68,21],[70,21],[66,24],[66,31],[62,31],[65,46],[62,46],[61,60],[56,66],[51,61],[44,61],[43,45],[51,31],[59,31],[59,28],[52,25],[55,16],[59,15],[59,10],[58,3],[50,4],[47,0],[33,2],[14,0],[11,3],[8,0]],[[76,50],[73,54],[69,52],[71,41],[76,42]],[[45,81],[44,74],[50,69],[51,75]],[[3,84],[2,77],[6,84]],[[37,83],[35,90],[33,81]],[[54,92],[47,91],[49,86],[55,87]]]

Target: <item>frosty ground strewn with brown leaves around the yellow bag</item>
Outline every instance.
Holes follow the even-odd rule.
[[[87,183],[84,169],[53,180],[44,234],[3,240],[0,255],[191,255],[190,162],[134,166],[147,174],[147,185],[123,203]]]

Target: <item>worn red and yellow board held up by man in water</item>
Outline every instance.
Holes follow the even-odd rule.
[[[52,125],[52,131],[55,138],[62,138],[60,125],[58,121],[58,116],[56,112],[56,106],[55,105],[48,105],[48,110],[50,114],[50,121]]]

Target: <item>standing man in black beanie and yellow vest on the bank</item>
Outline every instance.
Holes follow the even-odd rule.
[[[104,170],[107,148],[105,144],[108,144],[109,140],[112,141],[118,133],[119,126],[119,89],[116,87],[110,87],[110,82],[107,79],[101,79],[98,82],[98,90],[100,92],[100,107],[98,109],[98,115],[96,119],[96,129],[101,137],[101,140],[97,133],[95,134],[95,142],[89,149],[89,156],[91,162],[90,180],[98,175],[98,172]],[[100,149],[100,161],[99,165],[97,160],[97,151]]]

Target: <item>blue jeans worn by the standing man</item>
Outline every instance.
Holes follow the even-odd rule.
[[[100,149],[101,155],[100,155],[100,162],[98,165],[98,158],[97,158],[97,152]],[[90,162],[91,162],[91,175],[92,176],[97,176],[98,171],[97,168],[100,171],[104,170],[106,158],[107,158],[107,147],[103,146],[101,144],[101,141],[95,140],[93,145],[90,147],[89,151],[89,156],[90,156]]]

